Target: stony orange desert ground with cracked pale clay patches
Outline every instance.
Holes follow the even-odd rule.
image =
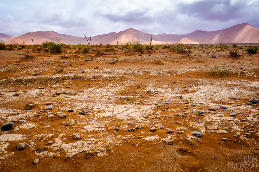
[[[0,130],[0,171],[259,170],[259,106],[248,103],[259,54],[247,44],[8,46],[0,126],[13,127]]]

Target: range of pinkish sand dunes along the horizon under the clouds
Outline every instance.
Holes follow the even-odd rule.
[[[90,36],[90,35],[88,35]],[[176,44],[182,42],[184,44],[213,44],[213,43],[257,43],[259,39],[259,29],[248,23],[236,24],[232,27],[216,30],[203,31],[196,30],[188,34],[148,34],[129,28],[118,33],[110,32],[108,34],[97,35],[91,37],[90,44],[124,44],[128,40],[140,37],[143,44],[149,44],[152,36],[152,44]],[[59,34],[55,31],[37,31],[28,32],[26,34],[12,37],[6,34],[0,34],[0,39],[6,40],[5,44],[32,44],[30,37],[34,37],[34,44],[41,44],[44,41],[59,40],[66,44],[87,44],[85,37]],[[87,37],[89,38],[89,37]],[[117,39],[116,39],[117,38]]]

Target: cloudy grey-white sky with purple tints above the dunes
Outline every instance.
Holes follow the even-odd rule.
[[[259,28],[259,0],[0,0],[0,33],[51,31],[92,36],[128,28],[150,34]]]

